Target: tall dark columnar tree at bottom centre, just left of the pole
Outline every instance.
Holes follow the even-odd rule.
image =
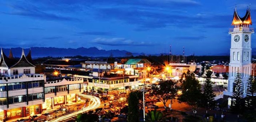
[[[132,91],[128,98],[128,122],[139,122],[138,91]]]

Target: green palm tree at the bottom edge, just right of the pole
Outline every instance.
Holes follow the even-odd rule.
[[[146,122],[159,122],[162,119],[162,113],[160,111],[150,111],[146,116]]]

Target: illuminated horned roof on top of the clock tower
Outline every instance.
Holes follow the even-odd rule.
[[[231,25],[239,25],[239,24],[251,24],[252,25],[250,10],[251,9],[249,7],[249,9],[246,10],[245,16],[240,17],[238,15],[238,12],[235,7],[233,21],[232,21]]]

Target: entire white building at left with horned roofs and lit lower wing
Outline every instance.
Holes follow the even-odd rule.
[[[35,74],[31,51],[15,60],[1,49],[0,57],[0,121],[37,115],[59,105],[78,104],[83,79],[47,82],[44,74]],[[50,104],[52,103],[52,104]],[[76,105],[77,106],[77,105]]]

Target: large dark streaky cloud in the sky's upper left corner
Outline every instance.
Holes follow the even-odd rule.
[[[22,5],[10,5],[12,8],[11,12],[1,12],[7,15],[18,15],[27,16],[32,18],[37,18],[41,20],[58,20],[58,21],[79,21],[77,18],[65,17],[61,15],[56,15],[54,13],[49,13],[40,10],[38,7],[32,4],[22,4]]]

